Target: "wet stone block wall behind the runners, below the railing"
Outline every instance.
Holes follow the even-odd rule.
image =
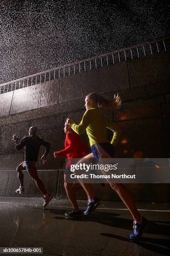
[[[37,126],[40,137],[51,143],[47,164],[42,165],[39,160],[38,169],[64,169],[65,159],[54,159],[53,151],[64,146],[65,119],[81,120],[84,99],[90,92],[104,94],[108,99],[118,92],[122,98],[122,108],[109,113],[104,111],[122,129],[116,157],[133,157],[136,151],[142,151],[144,157],[170,157],[170,52],[167,51],[0,95],[0,170],[3,175],[15,170],[23,160],[22,151],[17,152],[11,140],[13,134],[22,138],[32,125]],[[107,136],[111,138],[112,134],[108,132]],[[82,139],[89,146],[87,136],[83,135]],[[41,148],[40,154],[43,151]],[[60,171],[56,179],[56,196],[65,198],[63,172]],[[5,182],[1,177],[2,180]],[[94,186],[101,200],[119,200],[109,185]],[[168,184],[127,186],[138,201],[170,200]],[[105,193],[101,192],[103,189]],[[158,195],[160,189],[161,195]],[[77,195],[85,199],[83,192]]]

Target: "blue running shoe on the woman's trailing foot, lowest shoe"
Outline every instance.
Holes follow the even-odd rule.
[[[148,225],[149,225],[149,221],[144,217],[142,217],[141,224],[135,223],[135,221],[133,221],[133,233],[129,234],[130,239],[140,238],[145,232],[145,230],[148,228]]]

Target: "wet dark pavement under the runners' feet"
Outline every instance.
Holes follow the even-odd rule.
[[[45,256],[170,255],[169,204],[137,204],[150,220],[138,241],[128,237],[132,219],[122,203],[102,202],[89,215],[67,219],[66,204],[52,200],[42,210],[41,199],[0,197],[0,247],[43,247]]]

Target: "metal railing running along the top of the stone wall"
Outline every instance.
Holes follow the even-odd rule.
[[[66,64],[54,69],[49,69],[37,74],[13,80],[4,84],[0,84],[0,94],[18,90],[34,84],[41,84],[56,78],[70,76],[72,74],[87,72],[99,67],[110,66],[121,61],[140,58],[163,51],[170,50],[170,36],[160,38],[154,41],[149,41],[144,44],[138,44],[132,47],[112,51],[106,54],[101,54],[89,59]]]

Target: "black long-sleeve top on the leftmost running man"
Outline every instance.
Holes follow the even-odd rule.
[[[39,138],[35,135],[26,136],[20,142],[18,142],[18,140],[15,140],[14,142],[17,150],[21,150],[22,148],[24,148],[25,161],[37,162],[40,146],[43,145],[46,147],[44,156],[47,156],[51,147],[50,143],[44,141],[43,138]]]

